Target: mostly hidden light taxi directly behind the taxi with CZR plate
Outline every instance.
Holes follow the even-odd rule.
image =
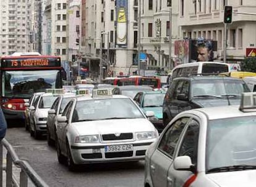
[[[63,109],[67,103],[75,97],[74,93],[66,92],[63,95],[59,95],[54,101],[51,109],[48,110],[47,116],[47,143],[48,145],[54,145],[56,134],[56,119],[58,115],[62,114]]]

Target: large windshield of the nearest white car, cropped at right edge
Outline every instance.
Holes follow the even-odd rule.
[[[256,117],[208,122],[207,171],[236,165],[256,165]]]

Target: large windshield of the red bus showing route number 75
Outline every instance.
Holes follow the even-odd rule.
[[[35,92],[59,87],[59,70],[4,71],[2,97],[30,98]]]

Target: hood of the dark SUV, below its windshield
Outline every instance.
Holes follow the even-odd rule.
[[[240,105],[241,98],[229,98],[230,105]],[[192,102],[202,108],[211,106],[226,106],[228,104],[227,98],[193,98]]]

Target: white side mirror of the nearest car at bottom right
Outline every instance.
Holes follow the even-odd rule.
[[[195,166],[189,156],[178,156],[173,161],[174,169],[179,171],[190,171],[195,173]]]

